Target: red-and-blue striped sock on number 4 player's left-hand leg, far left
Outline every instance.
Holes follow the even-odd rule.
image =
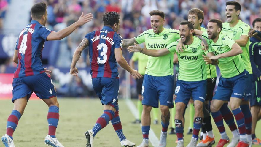
[[[21,114],[17,110],[12,110],[11,114],[7,118],[6,134],[13,139],[13,133],[18,125],[18,121],[21,118]]]

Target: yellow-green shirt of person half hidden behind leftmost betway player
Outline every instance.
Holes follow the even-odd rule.
[[[149,56],[147,56],[143,53],[133,53],[131,59],[135,62],[138,61],[138,72],[141,75],[145,75],[146,66],[147,66]]]

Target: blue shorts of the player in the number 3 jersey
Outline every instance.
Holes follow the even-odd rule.
[[[114,78],[93,78],[93,89],[99,96],[101,103],[118,108],[119,79]]]

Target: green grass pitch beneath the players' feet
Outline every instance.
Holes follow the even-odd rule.
[[[103,113],[103,107],[99,99],[58,99],[60,103],[60,120],[57,128],[56,137],[65,147],[83,147],[86,144],[84,133],[91,129],[97,118]],[[133,101],[136,105],[136,101]],[[10,100],[1,100],[0,107],[0,135],[6,132],[6,121],[9,116],[13,103]],[[136,143],[138,146],[142,141],[141,127],[139,124],[131,124],[135,120],[134,116],[128,109],[124,100],[119,101],[120,118],[125,136]],[[30,100],[26,107],[25,113],[21,117],[18,127],[14,132],[15,146],[17,147],[44,147],[44,137],[48,133],[47,123],[47,105],[41,100]],[[160,113],[159,113],[160,115]],[[186,123],[184,131],[187,132],[188,113],[185,115]],[[160,116],[159,116],[160,118]],[[258,122],[257,129],[260,130],[261,122]],[[161,125],[152,124],[151,128],[160,137]],[[217,127],[213,123],[214,134],[216,141],[220,137]],[[229,128],[226,126],[226,130]],[[227,131],[229,137],[232,136],[230,131]],[[257,131],[257,136],[261,133]],[[184,137],[186,146],[190,141],[191,135]],[[176,135],[168,135],[167,147],[174,147]],[[0,147],[4,146],[0,143]],[[94,139],[95,147],[119,147],[119,139],[114,132],[111,123],[102,129]],[[256,146],[257,147],[257,146]]]

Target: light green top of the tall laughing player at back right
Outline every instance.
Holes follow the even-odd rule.
[[[233,40],[240,39],[241,35],[248,36],[248,32],[250,30],[250,26],[241,20],[238,21],[238,23],[234,27],[230,27],[228,22],[223,23],[223,29],[222,33],[226,34],[229,38]],[[245,47],[241,47],[243,50],[243,53],[241,54],[241,57],[243,59],[243,62],[245,64],[246,70],[252,74],[252,68],[251,63],[249,59],[249,40],[246,43]]]

